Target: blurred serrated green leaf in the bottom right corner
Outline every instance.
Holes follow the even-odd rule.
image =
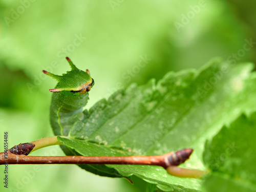
[[[241,115],[206,142],[203,159],[210,174],[203,186],[207,191],[256,191],[255,138],[253,113]]]

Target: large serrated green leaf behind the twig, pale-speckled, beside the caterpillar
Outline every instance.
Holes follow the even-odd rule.
[[[158,83],[132,84],[96,103],[60,138],[84,156],[161,155],[191,147],[182,166],[205,169],[203,146],[224,124],[256,109],[251,63],[231,66],[214,59],[200,70],[169,72]],[[250,93],[248,95],[248,93]],[[201,181],[170,176],[162,167],[106,165],[124,177],[135,175],[164,191],[198,191]]]

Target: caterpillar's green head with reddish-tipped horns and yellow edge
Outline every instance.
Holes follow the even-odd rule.
[[[90,76],[90,72],[87,69],[86,72],[79,70],[73,64],[69,57],[66,57],[71,67],[71,71],[68,71],[66,74],[54,75],[50,72],[42,70],[46,75],[53,77],[58,81],[57,87],[55,89],[50,89],[50,92],[62,92],[69,91],[72,93],[84,94],[91,90],[94,85],[94,80]]]

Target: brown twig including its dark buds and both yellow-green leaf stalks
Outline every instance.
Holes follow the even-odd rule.
[[[20,143],[10,150],[0,153],[1,164],[130,164],[130,165],[158,165],[167,173],[177,177],[202,178],[203,170],[177,167],[184,163],[193,149],[185,148],[160,156],[27,156],[39,148],[62,144],[57,136],[41,138],[30,143]]]

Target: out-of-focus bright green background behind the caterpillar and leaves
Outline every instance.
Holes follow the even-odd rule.
[[[56,81],[69,56],[95,79],[89,109],[132,82],[198,69],[210,58],[256,61],[254,1],[0,1],[0,151],[53,136]],[[247,40],[246,40],[247,39]],[[250,50],[244,48],[250,48]],[[63,155],[59,146],[33,155]],[[0,167],[1,180],[4,167]],[[76,165],[9,165],[9,191],[145,191],[145,182],[104,178]],[[4,188],[1,184],[1,191]],[[12,188],[10,188],[12,187]],[[7,190],[7,189],[6,189]]]

